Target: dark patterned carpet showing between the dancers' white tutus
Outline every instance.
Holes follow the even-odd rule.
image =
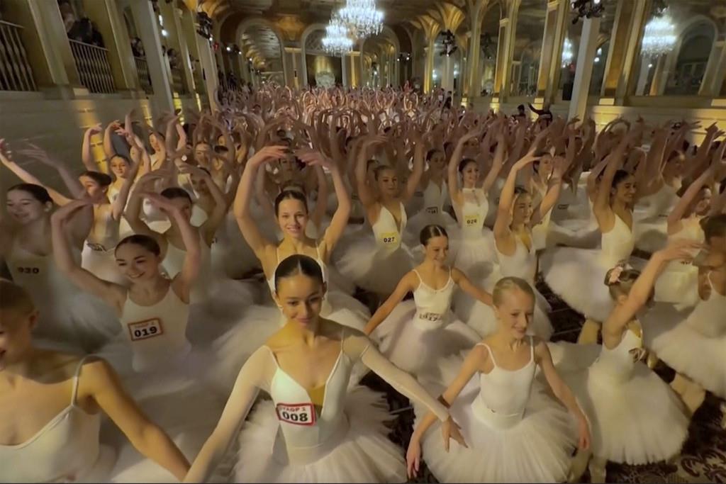
[[[554,341],[569,341],[574,343],[579,334],[583,318],[579,313],[572,311],[546,284],[538,284],[538,289],[552,305],[550,319],[555,327]],[[726,356],[725,356],[726,361]],[[726,364],[726,363],[725,363]],[[673,378],[673,371],[664,364],[656,367],[666,382]],[[386,393],[388,404],[396,419],[391,428],[391,439],[407,448],[411,437],[414,414],[409,407],[409,401],[396,393],[386,382],[380,380],[375,374],[368,374],[363,383],[374,390]],[[722,411],[720,406],[724,403],[710,393],[700,409],[696,411],[690,424],[689,438],[682,449],[682,453],[672,462],[659,462],[643,466],[625,464],[608,464],[608,483],[726,483],[726,430],[721,427]],[[667,422],[664,422],[667,424]],[[422,463],[419,476],[410,482],[438,483],[431,472]],[[589,483],[590,475],[585,473],[581,482]]]

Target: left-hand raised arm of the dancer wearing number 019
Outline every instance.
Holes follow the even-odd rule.
[[[118,284],[99,279],[91,272],[81,268],[76,263],[73,254],[70,252],[68,238],[66,237],[65,225],[77,210],[91,205],[92,200],[83,198],[73,200],[53,213],[50,218],[51,234],[53,240],[53,260],[60,271],[68,276],[81,290],[96,295],[117,311],[121,310],[123,301],[126,300],[126,290]]]

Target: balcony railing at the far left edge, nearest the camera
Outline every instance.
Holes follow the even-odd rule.
[[[21,25],[0,20],[0,91],[36,91]]]

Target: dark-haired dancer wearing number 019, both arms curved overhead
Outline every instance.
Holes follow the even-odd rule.
[[[204,391],[197,377],[204,376],[200,353],[192,353],[187,340],[189,299],[200,268],[201,250],[197,230],[189,223],[188,213],[172,200],[159,194],[142,192],[179,227],[184,242],[184,264],[174,278],[168,279],[161,266],[158,242],[144,234],[122,239],[115,247],[118,268],[129,286],[99,279],[73,260],[64,237],[64,226],[89,200],[76,200],[52,216],[53,253],[58,267],[78,287],[105,300],[118,315],[121,334],[99,351],[123,379],[129,393],[139,401],[154,422],[174,438],[185,454],[194,455],[203,435],[213,427],[221,402]],[[172,411],[171,409],[174,409]],[[195,421],[180,417],[195,416]],[[131,448],[118,458],[119,480],[161,481],[148,459]]]

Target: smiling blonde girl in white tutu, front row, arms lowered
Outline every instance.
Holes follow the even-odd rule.
[[[442,446],[435,433],[427,433],[436,418],[416,408],[409,476],[416,475],[423,458],[442,483],[563,482],[574,446],[581,451],[589,446],[587,419],[552,366],[547,345],[527,335],[535,305],[529,284],[505,277],[493,296],[497,331],[463,361],[457,356],[442,365],[450,384],[441,398],[461,424],[468,446]],[[571,415],[539,386],[537,368]]]

